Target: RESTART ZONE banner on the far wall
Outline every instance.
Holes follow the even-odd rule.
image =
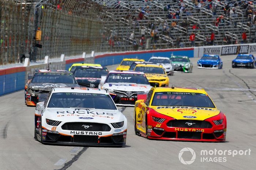
[[[221,55],[248,54],[249,45],[224,46],[221,49]]]

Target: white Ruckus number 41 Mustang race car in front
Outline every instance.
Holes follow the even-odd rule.
[[[52,88],[35,109],[35,136],[42,143],[123,146],[127,119],[111,96],[97,88]]]

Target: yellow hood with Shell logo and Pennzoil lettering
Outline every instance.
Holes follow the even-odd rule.
[[[177,120],[205,120],[219,114],[217,108],[206,107],[180,107],[180,106],[152,106],[160,114],[170,116]]]

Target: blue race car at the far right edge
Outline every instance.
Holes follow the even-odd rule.
[[[238,54],[237,58],[232,61],[232,68],[248,67],[256,68],[255,57],[252,54]]]

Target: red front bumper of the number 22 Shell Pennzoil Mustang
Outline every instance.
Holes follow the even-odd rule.
[[[170,127],[170,121],[182,121],[176,119],[166,119],[163,123],[154,122],[148,118],[148,139],[162,139],[170,141],[204,141],[204,142],[224,142],[226,139],[226,125],[215,125],[210,123],[210,128],[206,127]],[[193,120],[184,120],[193,121]],[[197,120],[196,120],[197,121]],[[199,121],[198,121],[199,122]],[[185,125],[185,124],[184,124]]]

